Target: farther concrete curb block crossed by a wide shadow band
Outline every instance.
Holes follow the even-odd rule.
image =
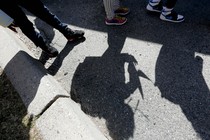
[[[2,27],[0,50],[0,65],[20,93],[30,115],[40,114],[59,96],[69,96],[43,65],[32,57],[25,44]]]

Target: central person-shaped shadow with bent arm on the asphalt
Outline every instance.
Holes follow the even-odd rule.
[[[101,57],[87,57],[77,67],[70,92],[86,114],[105,119],[114,140],[133,137],[134,112],[125,99],[140,87],[140,72],[134,66],[137,61],[132,55],[121,53],[126,39],[121,30],[109,28],[108,49]],[[129,82],[125,82],[125,63]]]

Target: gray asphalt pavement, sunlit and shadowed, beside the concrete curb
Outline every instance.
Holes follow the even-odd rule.
[[[124,26],[104,23],[102,0],[43,2],[84,42],[68,43],[28,15],[57,58],[46,69],[113,140],[210,139],[210,3],[178,1],[181,24],[149,14],[147,1],[123,1],[131,9]],[[40,58],[43,61],[43,58]]]

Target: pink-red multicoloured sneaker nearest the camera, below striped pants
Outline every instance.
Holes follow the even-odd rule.
[[[115,16],[113,19],[106,19],[105,23],[106,25],[123,25],[127,22],[127,18]]]

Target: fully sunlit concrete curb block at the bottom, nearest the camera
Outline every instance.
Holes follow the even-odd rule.
[[[36,121],[44,140],[106,140],[70,98],[59,98]]]

